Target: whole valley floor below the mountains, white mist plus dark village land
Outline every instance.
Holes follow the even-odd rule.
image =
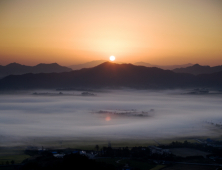
[[[2,91],[1,168],[215,169],[221,103],[208,89]]]

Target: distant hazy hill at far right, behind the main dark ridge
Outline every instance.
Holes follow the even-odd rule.
[[[195,64],[193,66],[186,68],[176,68],[173,71],[176,73],[190,73],[194,75],[211,74],[222,71],[222,66],[210,67],[210,66],[201,66],[199,64]]]

